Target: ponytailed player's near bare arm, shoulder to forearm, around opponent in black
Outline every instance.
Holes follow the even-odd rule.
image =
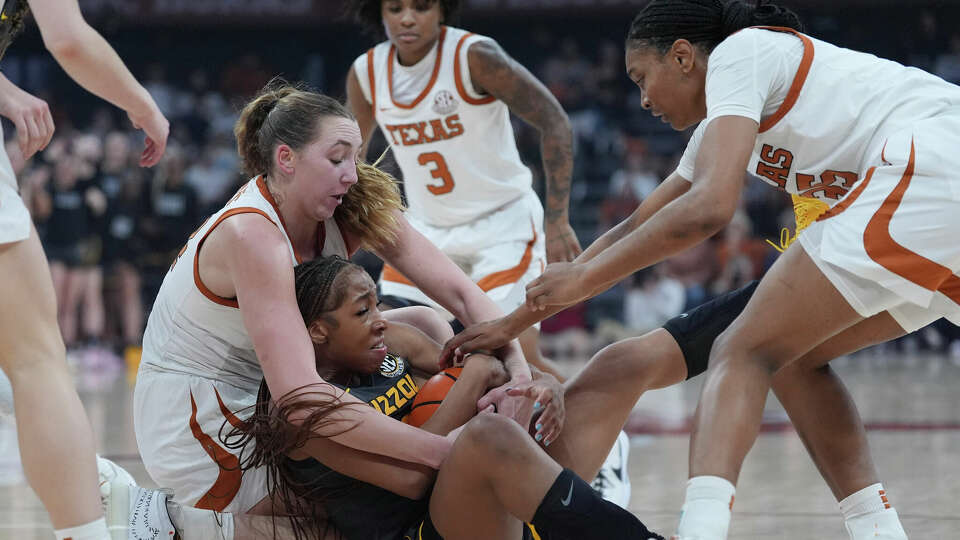
[[[317,375],[313,345],[294,295],[290,253],[280,231],[256,214],[234,216],[220,227],[222,233],[207,243],[214,240],[215,253],[224,257],[244,326],[273,396],[338,396],[356,406],[331,412],[327,417],[331,422],[317,427],[317,435],[357,450],[439,467],[450,450],[449,441],[384,416]],[[205,244],[204,249],[210,247]],[[297,424],[308,413],[301,411],[289,420]],[[351,426],[355,427],[347,429]]]

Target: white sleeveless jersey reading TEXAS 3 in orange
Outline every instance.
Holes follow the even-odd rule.
[[[443,26],[414,66],[401,66],[389,41],[353,63],[403,171],[409,212],[431,225],[473,221],[531,190],[509,109],[470,79],[467,50],[482,40],[490,38]]]

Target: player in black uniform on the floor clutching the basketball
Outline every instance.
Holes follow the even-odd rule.
[[[297,301],[324,380],[363,400],[381,401],[382,412],[402,417],[413,398],[408,361],[435,365],[439,345],[384,320],[373,281],[349,261],[328,257],[304,263],[296,268],[296,280]],[[317,403],[291,402],[270,397],[261,386],[257,412],[232,435],[242,434],[245,467],[269,468],[270,493],[286,514],[297,516],[294,528],[300,534],[319,536],[332,525],[356,539],[660,538],[581,480],[596,474],[620,431],[619,425],[610,433],[593,428],[606,404],[589,393],[564,400],[559,383],[542,375],[511,390],[530,398],[512,418],[484,412],[467,422],[485,387],[504,378],[497,364],[484,355],[467,359],[461,380],[473,378],[475,389],[458,388],[458,381],[423,426],[440,434],[462,430],[438,473],[313,435],[314,424],[329,422],[331,410],[350,406],[328,405],[330,396],[319,392]],[[597,364],[587,374],[598,391],[616,376],[596,373],[603,370]],[[305,407],[314,412],[291,428],[287,419]],[[571,422],[570,412],[577,409]],[[526,429],[532,417],[537,419],[534,437]],[[344,424],[343,429],[363,426]],[[596,436],[606,445],[579,440]],[[231,446],[237,444],[234,440]],[[320,456],[323,464],[310,455]]]

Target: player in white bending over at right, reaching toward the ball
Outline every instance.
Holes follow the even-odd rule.
[[[733,216],[744,170],[830,206],[711,349],[679,538],[726,537],[774,373],[830,344],[960,322],[960,88],[797,22],[763,2],[649,3],[627,37],[627,73],[655,116],[699,123],[678,168],[691,182],[603,253],[551,265],[527,289],[532,311],[553,310],[701,242]],[[879,484],[840,506],[852,537],[906,536]]]

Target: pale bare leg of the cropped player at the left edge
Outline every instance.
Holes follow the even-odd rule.
[[[90,423],[64,361],[57,302],[37,239],[0,246],[0,367],[13,386],[23,468],[56,529],[100,518]]]

